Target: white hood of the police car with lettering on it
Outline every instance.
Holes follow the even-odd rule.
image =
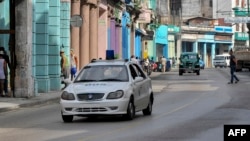
[[[113,92],[123,90],[129,85],[129,82],[84,82],[72,83],[65,90],[73,93],[87,92]]]

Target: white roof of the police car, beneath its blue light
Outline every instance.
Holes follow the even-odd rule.
[[[114,60],[92,60],[87,66],[99,66],[99,65],[126,65],[132,62],[128,59],[114,59]]]

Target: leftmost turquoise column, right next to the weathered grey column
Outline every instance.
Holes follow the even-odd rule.
[[[35,66],[36,82],[39,93],[47,93],[50,90],[49,80],[49,0],[36,1],[35,9]]]

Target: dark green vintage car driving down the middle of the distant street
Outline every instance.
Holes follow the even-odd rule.
[[[200,57],[198,53],[182,52],[179,59],[179,75],[183,73],[196,73],[200,75]]]

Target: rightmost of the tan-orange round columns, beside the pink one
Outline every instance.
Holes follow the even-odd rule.
[[[95,2],[94,2],[95,3]],[[99,8],[97,4],[90,5],[90,23],[89,23],[89,60],[98,59],[98,19]]]

